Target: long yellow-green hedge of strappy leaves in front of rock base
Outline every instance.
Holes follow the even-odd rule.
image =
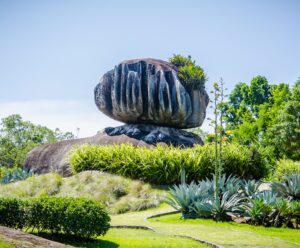
[[[153,149],[129,144],[85,145],[70,153],[73,172],[100,170],[155,184],[180,182],[182,168],[188,182],[211,177],[214,172],[212,144],[180,149],[158,146]],[[264,155],[254,147],[227,144],[223,148],[223,173],[260,179],[268,174]]]

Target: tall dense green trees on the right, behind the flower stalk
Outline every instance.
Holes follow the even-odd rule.
[[[300,79],[293,87],[262,76],[239,83],[223,113],[228,140],[268,147],[274,160],[300,160]]]

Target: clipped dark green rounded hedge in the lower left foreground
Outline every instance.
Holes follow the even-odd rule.
[[[104,235],[110,217],[99,204],[84,198],[41,197],[31,200],[0,198],[0,224],[38,232],[77,237]]]

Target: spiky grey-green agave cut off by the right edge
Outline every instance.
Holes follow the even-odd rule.
[[[291,199],[300,200],[300,173],[288,175],[283,183],[275,182],[272,184],[272,190],[278,195]]]

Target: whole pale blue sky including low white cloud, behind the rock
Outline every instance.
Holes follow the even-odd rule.
[[[227,87],[300,76],[300,1],[0,0],[0,118],[93,135],[119,123],[93,103],[99,78],[130,58],[192,55]],[[208,128],[207,122],[203,125]]]

